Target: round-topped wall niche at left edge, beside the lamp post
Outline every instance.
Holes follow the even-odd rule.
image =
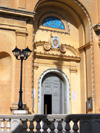
[[[11,56],[0,52],[0,113],[10,113],[11,98]]]

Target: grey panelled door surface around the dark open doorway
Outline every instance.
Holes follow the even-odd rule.
[[[62,84],[63,81],[55,73],[45,75],[42,82],[43,95],[52,95],[52,114],[62,113]],[[45,101],[43,102],[43,104]],[[49,105],[49,104],[48,104]],[[48,106],[47,105],[47,106]],[[44,112],[44,111],[43,111]]]

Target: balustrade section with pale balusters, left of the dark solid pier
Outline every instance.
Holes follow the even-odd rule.
[[[0,133],[74,133],[77,132],[77,120],[73,128],[66,115],[0,115]]]

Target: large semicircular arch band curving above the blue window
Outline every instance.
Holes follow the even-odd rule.
[[[73,12],[79,17],[80,21],[83,23],[84,25],[84,31],[86,34],[86,40],[85,43],[88,42],[92,42],[93,41],[93,34],[92,34],[92,22],[91,22],[91,18],[90,15],[87,11],[87,9],[85,8],[85,6],[79,1],[79,0],[70,0],[70,1],[64,1],[64,0],[51,0],[51,1],[46,1],[46,0],[39,0],[35,7],[34,7],[34,11],[36,12],[36,10],[40,7],[40,6],[47,6],[46,3],[48,3],[48,5],[50,5],[50,3],[54,3],[54,2],[58,2],[57,6],[60,7],[60,4],[62,4],[63,6],[67,6],[69,7],[71,10],[73,10]],[[88,37],[87,37],[88,36]]]

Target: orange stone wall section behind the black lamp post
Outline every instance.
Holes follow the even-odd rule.
[[[27,46],[32,50],[33,25],[32,15],[11,10],[0,16],[0,113],[10,114],[17,109],[20,88],[20,61],[16,60],[12,50],[17,46],[24,49]],[[16,15],[17,12],[19,15]],[[28,12],[29,13],[29,12]],[[28,23],[27,23],[28,20]],[[27,103],[29,112],[32,112],[32,55],[23,62],[23,103]]]

